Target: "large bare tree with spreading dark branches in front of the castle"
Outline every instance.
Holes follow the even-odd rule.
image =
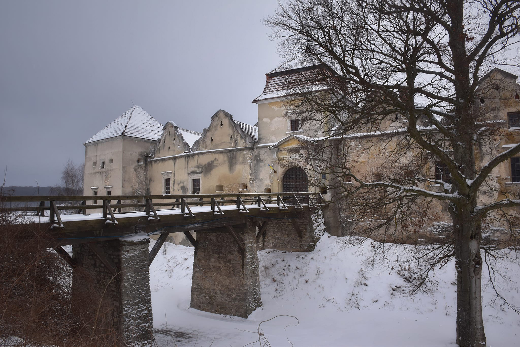
[[[332,177],[352,224],[367,235],[406,236],[428,208],[447,207],[452,241],[430,256],[456,260],[460,346],[486,344],[483,225],[515,223],[511,207],[520,206],[517,191],[493,177],[520,153],[520,144],[496,150],[499,136],[520,139],[493,118],[502,100],[518,110],[519,86],[507,74],[486,75],[492,64],[514,64],[519,16],[516,0],[292,0],[266,20],[284,58],[323,67],[288,81],[296,95],[289,107],[327,124],[298,153]],[[489,95],[496,102],[487,105]],[[381,169],[359,168],[370,151]]]

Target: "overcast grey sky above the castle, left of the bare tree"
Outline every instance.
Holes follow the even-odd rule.
[[[83,142],[132,107],[201,131],[251,103],[280,62],[262,1],[0,2],[0,166],[6,185],[59,183]]]

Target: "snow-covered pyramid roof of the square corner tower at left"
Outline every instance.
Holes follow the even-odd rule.
[[[85,143],[105,140],[116,136],[129,136],[157,140],[162,135],[162,125],[139,106],[133,106]]]

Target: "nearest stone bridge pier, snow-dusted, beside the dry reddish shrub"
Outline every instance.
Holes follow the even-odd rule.
[[[152,346],[148,238],[73,246],[72,295],[88,326],[121,345]]]

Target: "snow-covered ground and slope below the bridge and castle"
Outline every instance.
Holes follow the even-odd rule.
[[[263,306],[248,319],[190,309],[193,248],[165,243],[150,268],[155,339],[159,346],[244,346],[258,340],[262,321],[287,315],[261,324],[271,346],[455,346],[453,262],[410,296],[407,271],[396,262],[402,246],[374,258],[370,242],[344,249],[345,240],[326,234],[310,253],[258,252]],[[513,282],[497,285],[519,305],[519,265],[506,260],[502,270]],[[484,292],[488,345],[520,345],[520,315],[492,303],[489,285]]]

